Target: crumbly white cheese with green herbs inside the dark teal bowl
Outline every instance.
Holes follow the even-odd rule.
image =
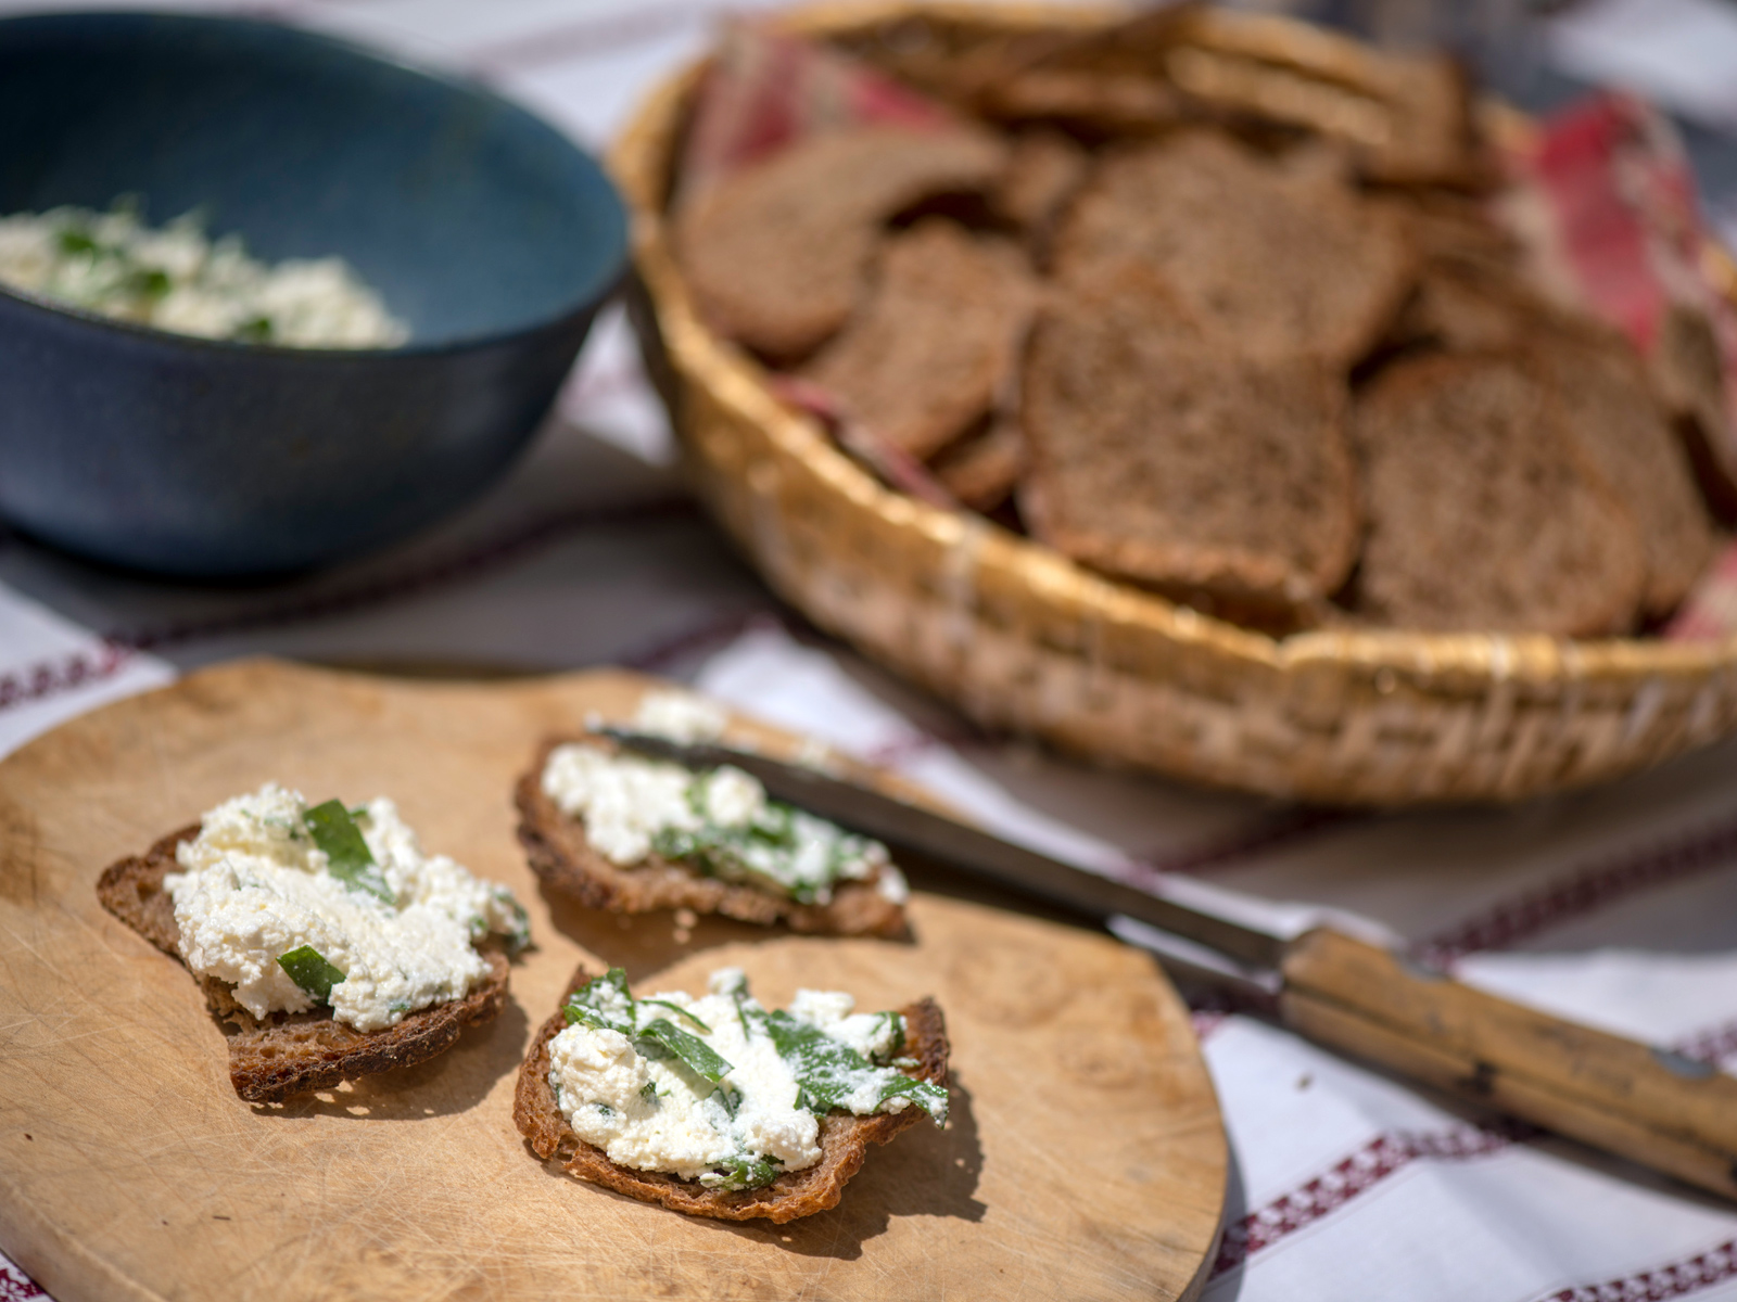
[[[122,321],[290,347],[394,347],[410,332],[339,257],[267,266],[196,214],[162,229],[125,207],[0,217],[0,283]]]

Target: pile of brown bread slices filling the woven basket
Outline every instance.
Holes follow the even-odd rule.
[[[697,304],[895,486],[1212,615],[1659,627],[1720,542],[1685,437],[1721,404],[1541,288],[1447,59],[1265,31],[858,33],[950,116],[684,194]]]

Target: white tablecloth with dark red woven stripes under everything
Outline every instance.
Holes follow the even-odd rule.
[[[719,5],[266,9],[486,76],[601,144],[653,78],[703,47]],[[1516,811],[1370,816],[1093,773],[985,738],[816,635],[731,557],[670,469],[669,432],[615,314],[528,458],[387,554],[217,590],[0,538],[0,752],[257,651],[670,674],[891,764],[1079,863],[1146,865],[1179,896],[1273,925],[1332,915],[1513,998],[1737,1066],[1737,745]],[[1233,1154],[1209,1299],[1737,1299],[1737,1208],[1252,1017],[1202,1009],[1195,1024]],[[40,1292],[0,1259],[0,1302],[23,1297]]]

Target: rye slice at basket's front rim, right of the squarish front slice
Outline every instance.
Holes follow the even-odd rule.
[[[1562,637],[1633,625],[1640,535],[1522,361],[1402,361],[1360,394],[1353,439],[1369,503],[1365,618]]]

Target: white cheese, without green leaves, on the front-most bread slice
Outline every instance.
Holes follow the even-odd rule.
[[[637,1002],[637,1026],[653,1017],[703,1040],[730,1071],[716,1085],[676,1057],[650,1059],[620,1031],[575,1023],[549,1043],[549,1083],[573,1132],[601,1147],[610,1161],[636,1170],[657,1170],[683,1179],[716,1179],[712,1172],[743,1158],[775,1158],[780,1170],[804,1170],[820,1161],[820,1118],[797,1108],[797,1078],[764,1029],[750,1031],[752,1016],[764,1009],[747,993],[742,969],[719,969],[710,993],[693,998],[662,991]],[[606,1000],[608,1019],[624,1017],[625,1002]],[[662,1002],[662,1003],[660,1003]],[[674,1012],[674,1003],[683,1012]],[[799,991],[790,1014],[811,1021],[827,1035],[863,1055],[891,1052],[902,1033],[896,1014],[856,1014],[842,991]],[[703,1024],[703,1028],[702,1028]],[[868,1076],[868,1073],[865,1073]],[[735,1109],[726,1097],[740,1095]],[[908,1099],[877,1099],[877,1082],[867,1080],[844,1101],[865,1115],[877,1108],[902,1111]]]

